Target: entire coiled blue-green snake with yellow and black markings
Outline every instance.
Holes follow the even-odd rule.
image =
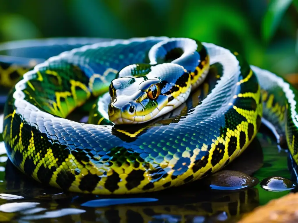
[[[9,86],[1,70],[11,87],[3,139],[15,167],[43,185],[91,194],[180,186],[240,156],[262,122],[298,161],[297,90],[237,51],[190,38],[35,41],[0,48],[21,76]],[[68,119],[90,100],[88,123]]]

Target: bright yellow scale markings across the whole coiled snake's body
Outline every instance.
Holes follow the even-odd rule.
[[[209,59],[206,57],[206,62],[209,62]],[[206,65],[206,64],[204,64]],[[207,67],[207,66],[203,66],[203,67]],[[195,83],[198,78],[200,77],[200,75],[204,72],[204,68],[200,69],[199,67],[197,67],[197,71],[198,71],[198,75],[195,75],[193,80],[190,81],[190,77],[187,81],[187,87],[179,87],[179,94],[180,92],[186,92],[187,88],[190,87],[190,84]],[[57,72],[51,71],[51,70],[47,70],[45,72],[47,75],[52,75],[55,76],[58,80],[58,84],[61,84],[61,77],[59,76],[59,74]],[[41,75],[40,72],[37,72],[38,78],[37,80],[39,81],[43,81],[44,78]],[[190,75],[194,75],[193,73],[191,73]],[[239,81],[237,84],[243,84],[246,81],[249,80],[249,78],[252,76],[252,71],[250,71],[249,75],[244,78],[243,80]],[[94,78],[97,78],[94,76]],[[94,78],[91,79],[91,81],[94,81]],[[28,86],[30,86],[30,88],[32,90],[35,90],[35,88],[32,86],[32,84],[28,81],[27,82]],[[49,109],[50,112],[52,114],[58,115],[60,117],[66,117],[67,114],[69,114],[73,109],[75,109],[75,107],[80,106],[83,104],[83,100],[79,100],[79,98],[77,97],[77,91],[76,91],[76,87],[80,87],[80,89],[83,90],[83,92],[85,92],[86,97],[84,97],[85,99],[89,98],[91,96],[91,92],[89,91],[88,87],[79,82],[79,81],[75,81],[75,80],[71,80],[70,81],[71,84],[71,91],[63,91],[63,92],[56,92],[55,96],[56,96],[56,101],[54,101],[52,103],[52,106],[49,105]],[[93,82],[91,83],[91,86],[93,85]],[[204,91],[208,91],[208,85],[206,85],[206,87],[204,87]],[[27,92],[27,94],[29,94],[29,92]],[[176,97],[178,95],[176,95],[176,93],[172,95],[173,97]],[[270,96],[269,96],[270,97]],[[64,98],[64,102],[61,102],[61,98]],[[243,117],[246,118],[247,122],[241,122],[239,123],[239,125],[237,125],[236,129],[228,129],[228,131],[226,132],[226,135],[222,135],[221,137],[218,137],[216,140],[213,141],[212,145],[211,145],[211,149],[209,150],[209,156],[208,157],[203,157],[201,160],[205,160],[207,159],[207,163],[205,166],[201,167],[198,171],[193,172],[193,166],[195,165],[195,161],[196,161],[196,157],[198,156],[198,154],[200,153],[200,151],[207,151],[208,146],[204,145],[201,148],[196,148],[193,151],[193,156],[191,156],[190,154],[190,149],[188,147],[185,148],[185,150],[182,153],[182,157],[187,157],[190,158],[190,164],[188,166],[187,171],[183,174],[183,175],[179,175],[177,178],[172,179],[172,175],[174,170],[170,170],[168,172],[168,175],[166,178],[156,181],[154,182],[154,187],[152,189],[149,189],[148,191],[154,191],[156,190],[156,188],[160,188],[163,186],[164,183],[166,182],[171,182],[172,186],[178,186],[184,183],[184,179],[193,176],[193,180],[196,180],[198,178],[201,178],[202,175],[204,175],[205,172],[207,172],[209,169],[211,169],[211,172],[215,172],[218,169],[220,169],[221,167],[223,167],[223,165],[226,164],[226,161],[232,161],[235,157],[237,157],[238,155],[240,155],[243,150],[249,145],[249,143],[252,141],[252,139],[254,138],[254,136],[257,133],[257,126],[256,126],[256,119],[257,116],[262,116],[262,104],[259,104],[260,101],[260,88],[258,89],[257,93],[245,93],[245,94],[238,94],[234,96],[234,99],[236,98],[253,98],[256,103],[257,103],[257,109],[256,111],[247,111],[244,109],[240,109],[237,108],[236,106],[233,106],[233,104],[231,104],[230,106],[232,106],[233,109],[235,109],[236,112],[238,112],[240,115],[242,115]],[[68,100],[73,100],[75,103],[69,103]],[[271,103],[271,99],[268,100],[268,103]],[[73,106],[70,106],[70,105]],[[272,103],[271,103],[272,104]],[[275,110],[279,110],[279,109],[283,109],[283,108],[275,108]],[[94,175],[102,175],[103,172],[107,171],[107,169],[98,169],[97,167],[94,166],[94,164],[92,164],[90,161],[89,162],[83,162],[83,165],[78,162],[75,158],[75,156],[73,156],[72,154],[69,154],[69,156],[67,158],[65,158],[65,160],[60,161],[60,165],[58,165],[57,161],[59,161],[58,157],[55,157],[55,154],[53,153],[52,149],[49,147],[46,149],[46,154],[44,155],[44,157],[41,157],[41,150],[37,151],[35,148],[35,142],[33,139],[33,133],[31,132],[31,139],[29,140],[29,146],[27,148],[25,148],[23,146],[22,143],[22,128],[23,128],[23,123],[19,126],[19,141],[15,144],[15,140],[18,138],[18,136],[13,137],[13,133],[12,133],[12,125],[13,125],[13,118],[14,118],[14,114],[15,111],[12,114],[9,114],[5,117],[5,119],[11,117],[11,125],[10,125],[10,146],[13,147],[13,145],[15,145],[13,147],[14,152],[16,152],[17,150],[19,152],[21,152],[23,160],[21,161],[21,164],[19,166],[19,169],[21,169],[24,172],[24,163],[27,157],[32,157],[34,159],[34,164],[36,165],[33,173],[32,173],[32,177],[35,178],[35,180],[38,180],[38,170],[41,166],[44,166],[45,168],[51,169],[52,167],[55,167],[55,171],[53,172],[50,182],[49,184],[51,186],[55,186],[60,188],[60,186],[57,184],[56,180],[57,180],[57,175],[62,172],[62,171],[70,171],[72,174],[75,175],[75,169],[78,168],[80,169],[80,174],[76,175],[75,178],[76,180],[72,183],[72,185],[69,187],[69,190],[71,191],[75,191],[75,192],[83,192],[83,193],[87,193],[88,191],[81,191],[79,189],[80,186],[80,181],[83,178],[84,175],[87,174],[94,174]],[[249,137],[248,137],[248,125],[249,123],[253,124],[254,126],[254,133],[253,136],[251,138],[251,140],[249,141]],[[7,128],[8,126],[4,127],[4,138],[7,137]],[[142,130],[141,130],[142,131]],[[244,144],[244,146],[242,148],[240,148],[240,132],[244,132],[245,136],[246,136],[246,142]],[[138,133],[136,133],[138,134]],[[193,135],[195,136],[195,133],[193,133]],[[133,134],[132,136],[135,136],[135,134]],[[229,142],[230,142],[230,138],[232,136],[235,136],[237,138],[237,148],[234,151],[234,153],[229,156],[228,154],[228,148],[229,148]],[[186,136],[185,140],[187,140],[187,137],[192,137],[192,136]],[[294,142],[294,139],[293,139]],[[220,148],[218,147],[219,144],[224,145],[224,156],[223,158],[216,164],[216,165],[212,165],[211,161],[212,161],[212,155],[215,152],[215,150],[220,150]],[[159,144],[156,145],[157,147],[159,147]],[[177,149],[178,149],[177,145]],[[184,148],[185,146],[183,145],[183,142],[181,143],[181,146]],[[175,145],[173,145],[173,147],[175,147]],[[13,154],[12,154],[13,155]],[[179,157],[173,157],[171,160],[165,160],[162,163],[160,163],[160,167],[165,168],[165,167],[174,167],[174,165],[177,163],[177,161],[179,160]],[[186,165],[186,163],[182,164],[182,165]],[[140,182],[140,184],[131,189],[130,193],[139,193],[143,191],[143,187],[145,185],[147,185],[148,183],[150,183],[153,179],[150,177],[150,174],[148,173],[148,169],[154,169],[153,166],[150,167],[144,167],[143,165],[139,165],[139,167],[133,167],[132,164],[122,164],[122,166],[118,167],[115,164],[113,164],[111,167],[108,168],[107,171],[107,176],[112,175],[113,172],[117,172],[117,174],[119,174],[119,178],[121,179],[120,182],[118,183],[119,189],[114,191],[114,194],[123,194],[127,192],[127,188],[126,188],[126,183],[127,183],[127,177],[128,175],[133,171],[133,170],[143,170],[145,171],[144,175],[145,178],[144,180],[142,180]],[[102,180],[99,181],[99,183],[97,184],[97,186],[95,187],[94,191],[92,191],[92,193],[105,193],[105,194],[111,194],[111,192],[105,188],[105,182],[106,182],[107,178],[103,178]]]

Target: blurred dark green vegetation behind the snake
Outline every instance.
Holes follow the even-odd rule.
[[[298,82],[298,0],[0,1],[0,42],[41,37],[191,37]]]

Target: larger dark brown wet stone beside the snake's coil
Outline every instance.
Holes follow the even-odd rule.
[[[239,190],[252,187],[259,183],[257,178],[243,172],[234,170],[222,170],[207,179],[211,189],[215,190]]]

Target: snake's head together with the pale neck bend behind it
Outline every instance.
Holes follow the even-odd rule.
[[[108,106],[111,122],[144,123],[173,110],[184,102],[181,99],[188,97],[190,78],[182,66],[164,63],[148,67],[129,65],[119,72],[119,78],[111,81]]]

